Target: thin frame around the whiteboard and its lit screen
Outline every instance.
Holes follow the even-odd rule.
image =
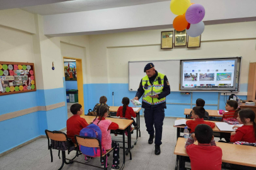
[[[181,60],[204,60],[204,59],[228,59],[228,58],[240,58],[240,69],[239,69],[239,80],[238,80],[238,91],[232,91],[232,92],[239,92],[240,91],[240,77],[241,77],[241,64],[242,64],[242,59],[243,57],[242,56],[238,56],[238,57],[216,57],[216,58],[196,58],[196,59],[180,59],[180,63],[181,63]],[[176,61],[177,59],[174,59],[174,60],[141,60],[141,61],[129,61],[128,62],[128,90],[129,91],[134,91],[134,90],[130,90],[130,67],[129,67],[129,64],[130,62],[160,62],[160,61]],[[181,65],[180,65],[181,66]],[[236,69],[237,70],[237,69]],[[180,67],[180,74],[181,74],[181,67]],[[180,80],[181,81],[181,80]],[[180,87],[179,87],[180,89]],[[137,90],[136,90],[137,91]],[[187,90],[178,90],[178,91],[174,91],[174,92],[221,92],[221,93],[224,93],[224,92],[230,92],[230,91],[197,91],[197,90],[190,90],[190,91],[187,91]]]

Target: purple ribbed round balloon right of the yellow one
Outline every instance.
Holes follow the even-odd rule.
[[[186,11],[186,20],[190,24],[197,24],[202,21],[206,11],[204,10],[204,6],[201,4],[192,4]]]

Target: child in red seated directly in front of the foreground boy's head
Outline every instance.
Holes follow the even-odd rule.
[[[195,106],[192,110],[192,118],[195,120],[188,120],[187,126],[191,129],[190,133],[195,132],[195,127],[199,124],[206,124],[209,125],[211,128],[215,127],[215,123],[212,122],[206,122],[204,121],[204,114],[206,113],[206,110],[204,110],[203,107]]]

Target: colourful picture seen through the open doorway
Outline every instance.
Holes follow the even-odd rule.
[[[64,62],[64,73],[66,81],[77,81],[76,62]]]

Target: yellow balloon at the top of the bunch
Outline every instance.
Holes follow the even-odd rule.
[[[184,14],[190,6],[190,0],[172,0],[170,9],[173,14]]]

